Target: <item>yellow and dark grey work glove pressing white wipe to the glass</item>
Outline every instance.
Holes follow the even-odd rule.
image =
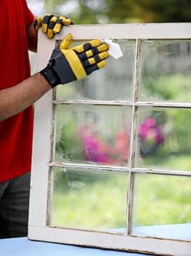
[[[95,39],[69,49],[72,39],[71,34],[63,39],[40,72],[52,87],[86,77],[106,65],[107,44]]]

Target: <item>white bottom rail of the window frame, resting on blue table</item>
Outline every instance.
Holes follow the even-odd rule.
[[[103,232],[48,227],[31,227],[29,236],[32,240],[54,241],[57,243],[65,241],[64,243],[69,245],[91,246],[165,256],[191,255],[191,245],[188,242],[147,237],[122,236]]]

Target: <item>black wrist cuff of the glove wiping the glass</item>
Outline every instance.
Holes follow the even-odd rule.
[[[53,68],[49,66],[49,64],[40,71],[40,74],[45,76],[45,79],[49,82],[49,84],[53,87],[62,84],[62,81],[57,76],[57,73],[54,72]]]

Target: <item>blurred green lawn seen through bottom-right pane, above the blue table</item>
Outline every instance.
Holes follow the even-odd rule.
[[[139,176],[135,221],[138,225],[189,223],[190,180],[176,176]],[[142,193],[144,191],[144,193]]]

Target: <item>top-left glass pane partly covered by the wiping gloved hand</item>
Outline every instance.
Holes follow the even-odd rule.
[[[125,100],[131,101],[134,85],[135,41],[115,41],[123,57],[109,57],[107,66],[87,78],[57,86],[57,99]],[[78,42],[82,43],[82,42]]]

